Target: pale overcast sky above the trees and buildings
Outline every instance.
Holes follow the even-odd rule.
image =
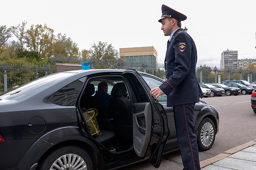
[[[117,50],[154,46],[163,63],[169,39],[158,22],[163,4],[187,16],[181,27],[195,41],[197,66],[220,68],[227,49],[237,50],[238,59],[256,58],[256,0],[5,0],[0,25],[47,24],[55,35],[71,37],[80,51],[99,41]]]

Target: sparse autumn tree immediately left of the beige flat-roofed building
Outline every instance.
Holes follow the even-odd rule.
[[[112,44],[108,45],[107,42],[99,41],[98,44],[93,42],[88,55],[96,60],[117,60],[119,52]]]

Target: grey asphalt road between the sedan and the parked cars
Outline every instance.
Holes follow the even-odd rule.
[[[203,101],[216,107],[219,112],[219,133],[211,149],[199,152],[200,161],[207,160],[228,149],[256,139],[256,114],[251,108],[251,95],[207,97]],[[158,170],[180,170],[183,168],[179,151],[163,155]],[[148,161],[129,165],[118,170],[153,170]]]

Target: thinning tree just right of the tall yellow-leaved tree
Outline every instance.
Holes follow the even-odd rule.
[[[58,34],[56,42],[54,43],[54,55],[62,55],[67,58],[76,58],[79,55],[79,48],[77,43],[73,42],[67,35]]]

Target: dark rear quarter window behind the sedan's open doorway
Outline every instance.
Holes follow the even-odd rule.
[[[78,94],[83,86],[83,80],[79,79],[64,86],[49,97],[49,102],[61,106],[75,106]]]

